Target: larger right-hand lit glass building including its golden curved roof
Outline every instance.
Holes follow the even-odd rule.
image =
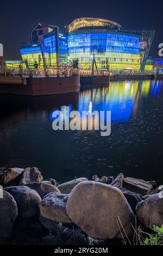
[[[74,20],[68,26],[68,54],[89,68],[95,55],[98,69],[145,69],[154,31],[124,31],[116,22],[95,18]]]

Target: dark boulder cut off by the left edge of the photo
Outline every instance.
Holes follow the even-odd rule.
[[[2,190],[0,197],[0,237],[9,237],[17,217],[16,201],[8,192]]]

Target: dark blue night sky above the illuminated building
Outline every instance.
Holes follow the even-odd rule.
[[[0,43],[4,56],[20,58],[19,43],[30,43],[29,32],[37,22],[63,28],[78,17],[116,21],[123,29],[155,30],[150,55],[158,56],[163,43],[163,1],[145,0],[3,0],[0,3]]]

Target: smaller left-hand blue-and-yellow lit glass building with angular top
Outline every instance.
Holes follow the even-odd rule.
[[[31,44],[21,44],[22,59],[28,68],[53,67],[67,64],[67,33],[59,31],[56,26],[44,26],[38,23],[30,32]]]

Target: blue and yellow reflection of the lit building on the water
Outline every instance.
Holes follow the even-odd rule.
[[[114,81],[110,82],[109,86],[83,90],[80,92],[78,105],[74,106],[70,104],[68,106],[70,111],[78,110],[81,116],[84,110],[88,114],[92,114],[93,111],[111,111],[112,124],[127,122],[131,114],[134,117],[136,116],[143,99],[159,96],[160,90],[161,80]],[[63,116],[65,116],[65,106],[60,106],[57,110],[61,110]]]

